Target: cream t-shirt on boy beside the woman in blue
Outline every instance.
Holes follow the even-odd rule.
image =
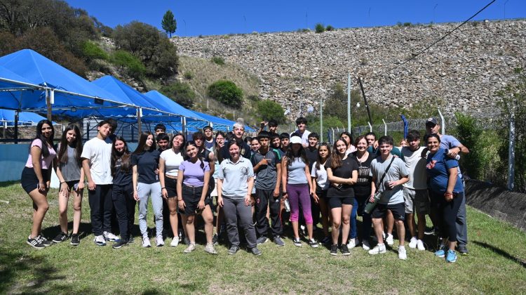
[[[402,147],[402,155],[404,155],[407,170],[409,170],[409,181],[404,183],[404,188],[411,190],[426,190],[427,176],[426,176],[426,159],[420,157],[422,150],[425,147],[419,147],[418,150],[412,152],[409,147]]]

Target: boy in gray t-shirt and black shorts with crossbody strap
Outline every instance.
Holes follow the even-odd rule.
[[[375,209],[372,209],[371,217],[378,244],[375,248],[369,250],[369,254],[386,253],[386,247],[382,237],[382,218],[386,216],[386,212],[389,210],[395,218],[398,240],[400,240],[398,258],[405,260],[407,259],[404,247],[405,202],[402,185],[409,181],[409,171],[407,171],[407,167],[402,159],[391,155],[393,144],[393,138],[391,136],[382,136],[378,140],[380,157],[373,159],[371,162],[369,175],[372,176],[372,184],[369,201],[377,202]],[[379,200],[375,201],[375,192],[377,191],[381,192],[382,195]]]

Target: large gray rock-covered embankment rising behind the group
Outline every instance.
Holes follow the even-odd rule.
[[[369,100],[411,107],[445,102],[446,112],[490,115],[515,67],[526,66],[526,20],[466,23],[417,55],[458,23],[371,27],[315,32],[252,33],[173,38],[178,51],[201,58],[221,56],[261,79],[259,98],[290,108],[290,118],[330,87],[362,77]],[[393,67],[396,67],[393,69]],[[393,70],[391,70],[393,69]],[[352,89],[358,89],[356,79]]]

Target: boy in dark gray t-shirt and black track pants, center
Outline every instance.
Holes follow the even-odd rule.
[[[267,218],[267,207],[270,209],[272,221],[271,232],[274,243],[285,246],[281,240],[283,226],[280,216],[280,183],[281,183],[281,157],[270,148],[270,136],[267,131],[261,131],[257,135],[259,150],[252,156],[251,162],[256,174],[256,232],[259,236],[257,244],[267,242],[269,232],[269,218]]]

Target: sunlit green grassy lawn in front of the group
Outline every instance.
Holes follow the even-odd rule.
[[[56,190],[49,194],[43,223],[48,239],[59,231],[56,195]],[[87,232],[79,247],[64,242],[37,251],[25,243],[32,222],[29,196],[18,183],[0,183],[0,200],[9,202],[0,202],[0,294],[526,293],[525,232],[471,208],[470,255],[447,264],[431,250],[409,248],[407,261],[398,260],[395,251],[370,256],[361,248],[352,249],[351,256],[332,257],[324,247],[294,247],[290,235],[283,248],[261,245],[258,257],[246,251],[229,256],[223,245],[212,256],[203,251],[202,235],[191,254],[182,253],[183,245],[167,247],[170,240],[165,247],[149,249],[142,249],[137,239],[122,249],[97,247],[88,231],[86,197],[81,231]],[[433,244],[428,238],[427,244]]]

